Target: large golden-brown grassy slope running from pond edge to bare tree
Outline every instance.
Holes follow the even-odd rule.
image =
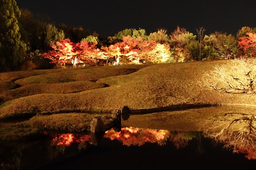
[[[219,93],[198,89],[197,80],[214,62],[188,62],[150,65],[129,75],[102,78],[97,83],[110,87],[75,94],[41,94],[14,99],[0,108],[0,117],[32,113],[72,113],[109,111],[127,105],[132,109],[177,104],[247,103],[256,104],[255,95]],[[118,66],[115,68],[117,69]],[[111,72],[110,69],[105,71]]]

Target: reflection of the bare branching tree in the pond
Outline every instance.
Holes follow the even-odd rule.
[[[224,147],[232,148],[233,152],[249,153],[256,148],[255,126],[254,114],[227,113],[210,117],[200,128],[204,129],[204,134],[225,143]]]

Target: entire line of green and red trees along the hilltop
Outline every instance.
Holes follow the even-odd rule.
[[[122,63],[166,63],[243,54],[254,56],[256,28],[242,27],[236,37],[215,32],[198,35],[177,27],[170,35],[160,29],[146,34],[144,29],[125,29],[106,39],[82,27],[54,25],[49,17],[19,9],[15,0],[0,2],[0,71],[38,69],[65,65],[77,56],[87,65],[108,64],[114,56]]]

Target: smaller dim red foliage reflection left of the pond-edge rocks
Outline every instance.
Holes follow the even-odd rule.
[[[91,135],[79,135],[79,134],[48,134],[44,132],[44,134],[53,137],[52,146],[56,145],[64,145],[70,146],[71,143],[77,142],[80,143],[81,141],[89,141]]]

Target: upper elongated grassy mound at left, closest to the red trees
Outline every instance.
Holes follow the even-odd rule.
[[[102,67],[91,68],[76,71],[66,71],[62,73],[52,73],[27,77],[15,81],[20,86],[28,84],[49,84],[49,83],[68,83],[73,81],[96,81],[99,78],[111,77],[117,75],[125,75],[136,72],[137,69],[119,68],[119,67]]]

